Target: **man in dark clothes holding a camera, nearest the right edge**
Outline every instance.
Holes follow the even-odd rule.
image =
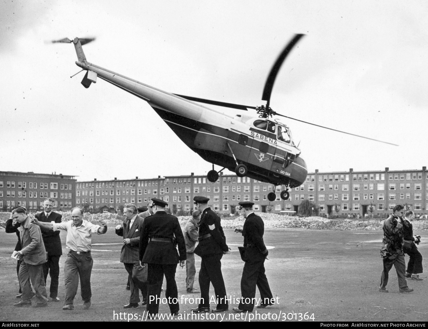
[[[407,263],[406,278],[411,280],[422,281],[419,278],[419,273],[422,273],[422,255],[419,252],[416,244],[421,241],[420,235],[413,235],[412,221],[415,219],[415,213],[411,210],[406,211],[405,219],[403,221],[403,252],[409,255],[410,259]]]

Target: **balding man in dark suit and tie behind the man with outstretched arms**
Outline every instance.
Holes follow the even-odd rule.
[[[45,223],[61,223],[62,215],[52,211],[53,200],[51,198],[43,201],[43,210],[41,213],[36,214],[37,220]],[[53,232],[52,229],[42,230],[43,243],[45,244],[46,252],[48,253],[48,261],[43,264],[43,274],[46,279],[48,274],[51,275],[51,287],[49,288],[49,297],[53,302],[59,302],[58,298],[58,277],[59,277],[59,257],[62,255],[61,238],[59,238],[59,231]]]

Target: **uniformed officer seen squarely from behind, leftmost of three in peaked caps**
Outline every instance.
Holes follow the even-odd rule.
[[[158,314],[160,291],[165,275],[165,297],[171,314],[177,314],[180,307],[175,271],[178,261],[181,267],[186,264],[186,245],[178,218],[165,212],[168,203],[156,198],[152,201],[153,215],[146,217],[140,234],[140,264],[147,264],[147,312]],[[174,238],[180,256],[175,248]]]

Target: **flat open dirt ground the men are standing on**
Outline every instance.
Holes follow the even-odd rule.
[[[423,266],[427,268],[427,237],[422,235],[419,251],[424,256]],[[232,252],[223,256],[222,271],[226,291],[232,299],[241,296],[240,282],[244,263],[236,245],[242,244],[242,236],[232,229],[225,229],[226,239]],[[50,302],[47,308],[14,308],[17,302],[18,279],[16,261],[10,258],[16,244],[15,234],[6,234],[0,230],[0,321],[112,321],[114,314],[135,314],[138,320],[144,314],[145,307],[124,310],[128,304],[129,291],[125,290],[127,274],[122,263],[119,263],[119,244],[93,245],[92,257],[92,306],[84,311],[80,291],[74,300],[74,311],[62,311],[62,302]],[[269,317],[276,321],[299,320],[299,313],[312,316],[315,321],[426,321],[428,319],[428,278],[424,281],[409,280],[408,285],[413,293],[399,293],[395,269],[389,275],[387,289],[389,293],[380,293],[377,288],[382,271],[382,260],[379,248],[382,231],[338,231],[308,229],[266,229],[265,243],[275,248],[269,251],[269,260],[265,262],[266,275],[273,296],[278,303],[265,309],[253,311],[253,317],[261,320]],[[65,233],[61,232],[63,252],[65,253]],[[105,235],[92,238],[97,243],[120,243],[121,238],[114,234],[113,226]],[[363,242],[361,244],[361,242]],[[59,297],[63,300],[65,256],[60,258]],[[408,256],[406,256],[406,262]],[[196,271],[199,271],[200,258],[196,256]],[[425,271],[426,272],[426,271]],[[185,289],[186,272],[178,267],[175,276],[178,286],[180,321],[189,314],[190,308],[196,307],[184,298],[200,297],[198,294],[187,294]],[[48,278],[48,286],[50,279]],[[197,273],[195,286],[197,283]],[[165,282],[163,284],[165,288]],[[214,295],[211,288],[210,296]],[[162,293],[164,296],[164,292]],[[257,291],[256,297],[259,298]],[[229,309],[238,306],[238,302],[229,305]],[[215,308],[215,304],[211,304]],[[160,313],[169,314],[168,305],[160,305]],[[307,312],[307,313],[306,313]],[[296,314],[296,315],[294,315]],[[223,321],[242,321],[233,317],[232,311],[223,314]],[[120,320],[122,317],[122,320]],[[128,318],[128,316],[126,316]],[[126,321],[125,315],[116,315],[119,321]],[[190,320],[190,318],[189,318]],[[202,320],[199,318],[199,320]],[[205,320],[205,319],[204,319]],[[217,317],[216,320],[221,320]],[[249,318],[246,319],[248,321]],[[253,319],[255,321],[256,319]],[[257,319],[259,320],[259,319]],[[312,321],[312,320],[309,320]]]

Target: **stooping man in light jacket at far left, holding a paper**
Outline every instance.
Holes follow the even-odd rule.
[[[30,222],[27,211],[24,208],[16,208],[12,211],[13,223],[19,223],[18,228],[22,241],[22,249],[18,251],[21,259],[19,267],[19,283],[22,289],[22,299],[15,303],[15,307],[31,305],[33,285],[36,292],[37,304],[34,307],[48,306],[48,295],[46,294],[45,281],[43,279],[43,263],[46,263],[46,250],[42,240],[42,232],[39,226]]]

